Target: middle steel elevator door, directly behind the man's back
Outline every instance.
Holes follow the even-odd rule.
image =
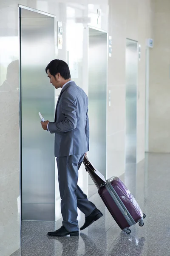
[[[88,79],[89,159],[106,177],[107,33],[91,28],[89,28]],[[91,179],[89,183],[91,184]]]

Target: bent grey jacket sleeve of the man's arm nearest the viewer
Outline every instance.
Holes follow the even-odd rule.
[[[48,123],[48,129],[51,133],[61,134],[74,130],[77,126],[77,104],[70,93],[62,97],[61,112],[65,117],[64,120]]]

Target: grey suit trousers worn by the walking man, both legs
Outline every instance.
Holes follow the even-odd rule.
[[[59,192],[61,197],[61,213],[63,226],[68,231],[78,231],[77,207],[85,217],[94,211],[96,206],[88,201],[87,195],[77,185],[78,170],[84,154],[57,157]]]

